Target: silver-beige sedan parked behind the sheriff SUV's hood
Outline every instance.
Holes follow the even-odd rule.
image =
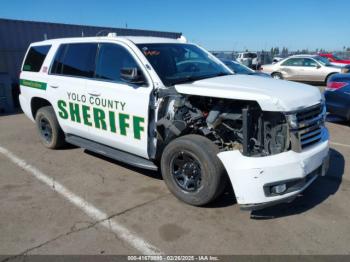
[[[276,79],[326,83],[329,76],[341,72],[341,67],[331,65],[318,55],[294,55],[275,64],[263,65],[261,70]]]

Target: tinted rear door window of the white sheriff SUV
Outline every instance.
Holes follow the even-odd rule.
[[[61,45],[51,73],[69,76],[93,77],[97,44],[79,43]]]

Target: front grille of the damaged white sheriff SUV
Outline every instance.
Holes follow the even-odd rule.
[[[296,112],[297,127],[290,129],[294,151],[300,152],[321,140],[325,113],[321,103]]]

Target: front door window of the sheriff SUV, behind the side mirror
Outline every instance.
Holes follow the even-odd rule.
[[[138,68],[129,51],[116,44],[101,44],[96,64],[96,78],[123,82],[120,79],[122,68]]]

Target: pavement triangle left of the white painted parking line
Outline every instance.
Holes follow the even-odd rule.
[[[0,254],[133,253],[3,155],[0,163]]]

